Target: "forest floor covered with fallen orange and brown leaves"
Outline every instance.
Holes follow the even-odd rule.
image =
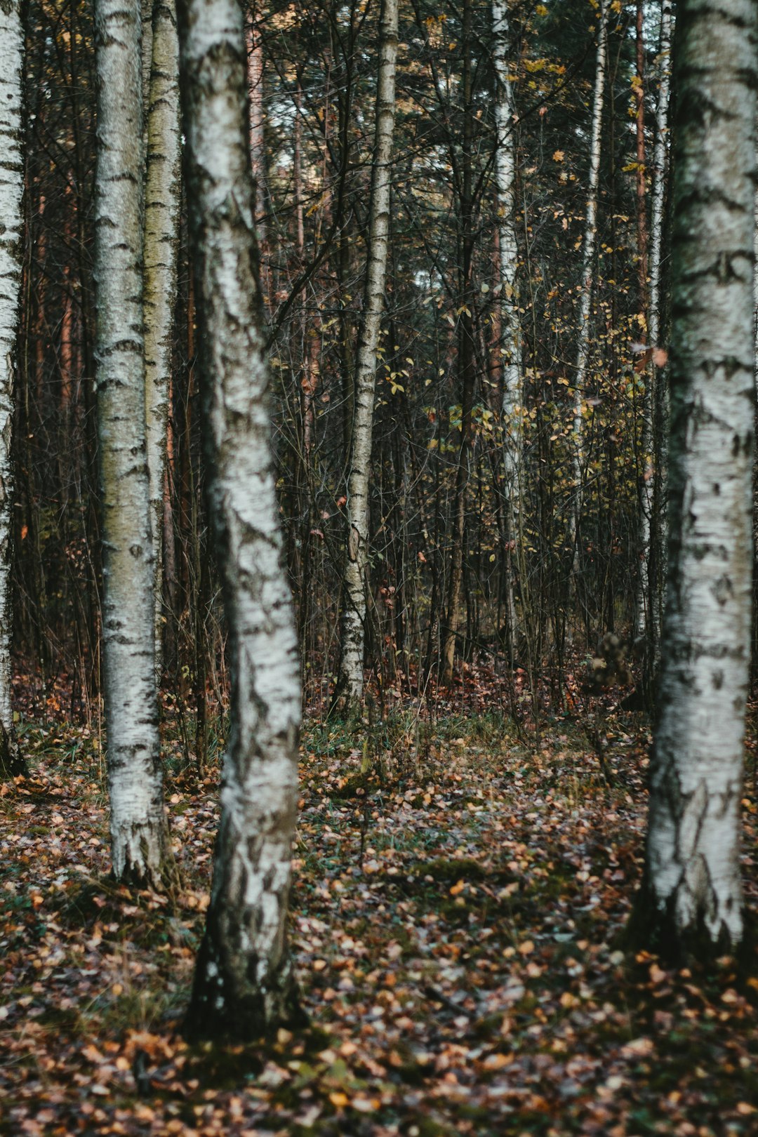
[[[439,706],[305,731],[292,945],[311,1026],[181,1037],[218,770],[167,742],[185,889],[107,877],[94,730],[22,722],[0,788],[0,1132],[405,1137],[758,1134],[758,961],[738,981],[625,957],[648,725],[609,707],[536,739]],[[757,908],[752,772],[748,905]]]

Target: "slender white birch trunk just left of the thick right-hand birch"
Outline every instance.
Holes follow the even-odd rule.
[[[652,158],[652,209],[650,219],[650,282],[648,310],[648,342],[653,352],[660,348],[660,267],[664,242],[664,209],[666,201],[666,183],[668,180],[668,103],[670,98],[670,53],[672,53],[672,3],[673,0],[661,0],[660,7],[660,44],[658,66],[660,78],[658,85],[658,106],[656,108],[656,141]],[[657,498],[656,473],[653,464],[655,447],[655,408],[657,402],[656,385],[663,382],[658,377],[658,366],[655,356],[648,366],[642,408],[642,454],[644,474],[640,492],[640,564],[636,586],[634,612],[634,638],[643,637],[657,644],[659,639],[660,612],[658,611],[658,589],[656,581],[650,580],[650,550],[653,524],[653,503]],[[658,518],[660,521],[660,518]],[[657,547],[663,547],[663,533],[657,534]]]

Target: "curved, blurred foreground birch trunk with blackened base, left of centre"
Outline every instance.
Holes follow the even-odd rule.
[[[299,664],[269,438],[242,10],[236,0],[181,0],[178,20],[208,506],[232,679],[222,820],[188,1030],[256,1037],[297,1011],[286,907]]]

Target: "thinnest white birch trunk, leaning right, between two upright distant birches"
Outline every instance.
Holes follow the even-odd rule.
[[[590,177],[582,243],[582,284],[576,332],[576,375],[574,380],[574,456],[573,483],[574,503],[568,518],[568,546],[574,550],[574,572],[577,568],[578,549],[576,541],[582,516],[582,478],[584,470],[584,384],[590,358],[590,312],[592,308],[592,275],[598,225],[598,186],[600,184],[600,136],[602,127],[602,100],[606,89],[606,57],[608,53],[608,7],[609,0],[600,0],[600,28],[598,32],[598,56],[592,96],[592,135],[590,141]]]

